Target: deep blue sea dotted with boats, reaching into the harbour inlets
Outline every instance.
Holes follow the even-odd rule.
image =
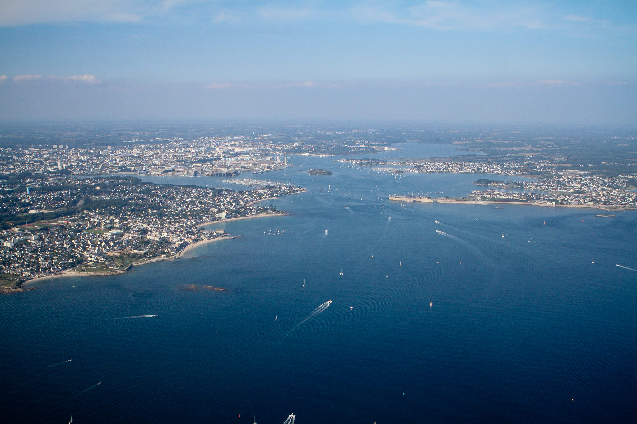
[[[457,153],[404,147],[378,157]],[[242,238],[0,297],[2,421],[634,422],[637,271],[616,264],[637,269],[636,212],[401,206],[485,175],[337,159],[254,175],[308,192],[213,225]],[[153,181],[236,188],[220,180]]]

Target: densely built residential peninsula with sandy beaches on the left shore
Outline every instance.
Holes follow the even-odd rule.
[[[275,207],[249,203],[303,191],[285,185],[233,191],[133,177],[12,177],[3,182],[0,270],[22,279],[73,267],[118,271],[171,257],[192,243],[225,234],[202,224],[276,213]]]

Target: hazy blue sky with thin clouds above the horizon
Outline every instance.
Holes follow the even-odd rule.
[[[5,120],[637,118],[632,1],[0,0],[0,57]]]

